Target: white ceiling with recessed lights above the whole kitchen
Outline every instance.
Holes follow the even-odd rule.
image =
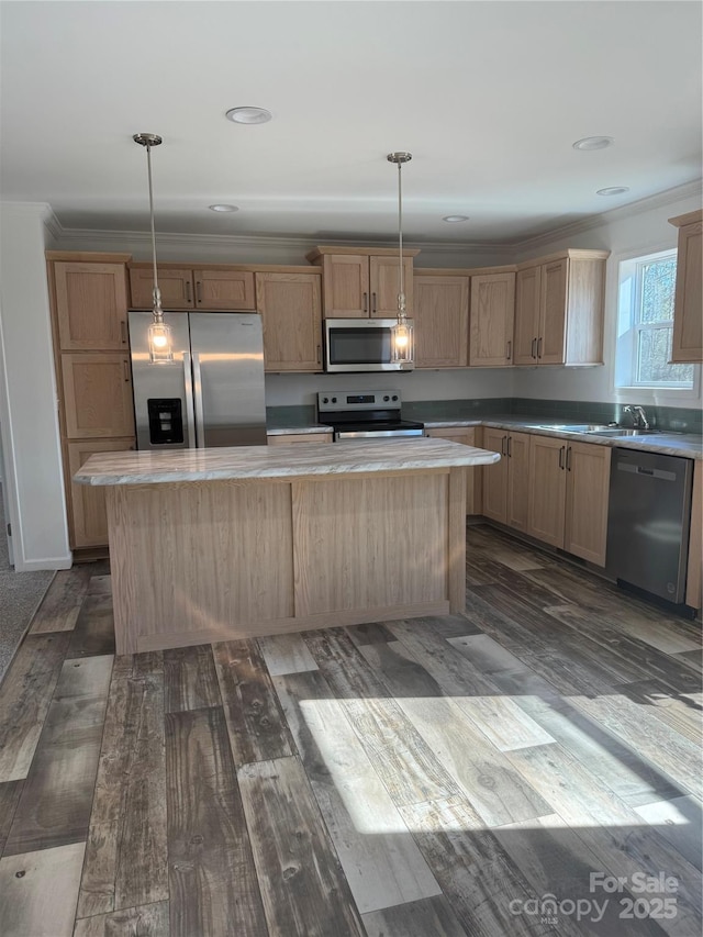
[[[64,227],[515,243],[701,176],[700,2],[0,3],[2,198]],[[239,126],[227,109],[274,120]],[[606,135],[615,145],[578,152]],[[615,198],[595,194],[628,186]],[[233,214],[208,205],[227,202]],[[447,224],[443,215],[470,221]]]

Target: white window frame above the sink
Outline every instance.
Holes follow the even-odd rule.
[[[639,336],[645,332],[654,332],[662,327],[669,320],[658,323],[641,323],[643,268],[658,258],[677,255],[676,245],[659,245],[656,247],[629,250],[620,255],[615,260],[615,325],[614,325],[614,366],[613,390],[615,394],[632,390],[639,398],[648,398],[650,402],[671,399],[690,401],[700,397],[701,367],[693,365],[692,384],[672,381],[637,381],[639,366]]]

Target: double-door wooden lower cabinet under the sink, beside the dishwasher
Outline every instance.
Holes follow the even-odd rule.
[[[526,533],[605,566],[611,449],[531,436]]]

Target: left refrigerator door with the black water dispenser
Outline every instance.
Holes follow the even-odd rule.
[[[130,347],[137,449],[187,449],[196,446],[188,314],[167,312],[174,361],[149,364],[150,312],[130,312]]]

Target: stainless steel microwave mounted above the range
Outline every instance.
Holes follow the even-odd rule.
[[[391,361],[394,319],[325,319],[325,371],[410,371]],[[409,320],[412,324],[412,320]]]

